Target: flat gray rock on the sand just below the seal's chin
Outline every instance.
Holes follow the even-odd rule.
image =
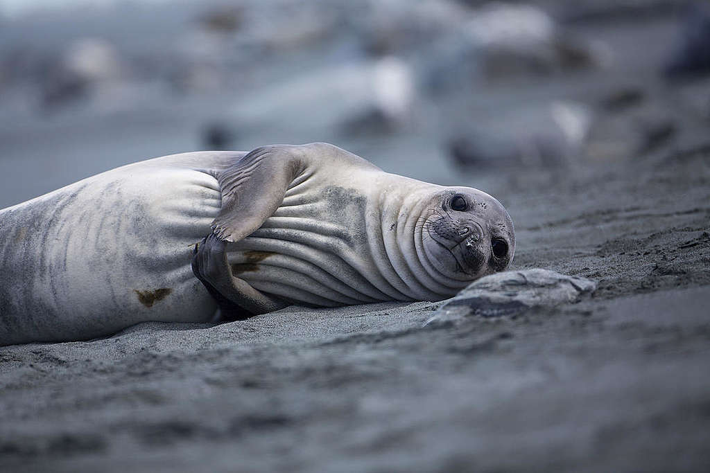
[[[513,316],[533,307],[577,302],[591,294],[596,282],[549,269],[491,274],[471,283],[450,299],[425,325],[459,321],[467,316]]]

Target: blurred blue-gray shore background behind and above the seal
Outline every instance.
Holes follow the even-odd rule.
[[[328,141],[492,191],[710,148],[708,2],[0,0],[0,207]],[[501,199],[506,204],[504,198]]]

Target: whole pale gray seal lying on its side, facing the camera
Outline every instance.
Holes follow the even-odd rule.
[[[0,211],[0,344],[440,300],[514,251],[488,194],[326,143],[158,157]]]

